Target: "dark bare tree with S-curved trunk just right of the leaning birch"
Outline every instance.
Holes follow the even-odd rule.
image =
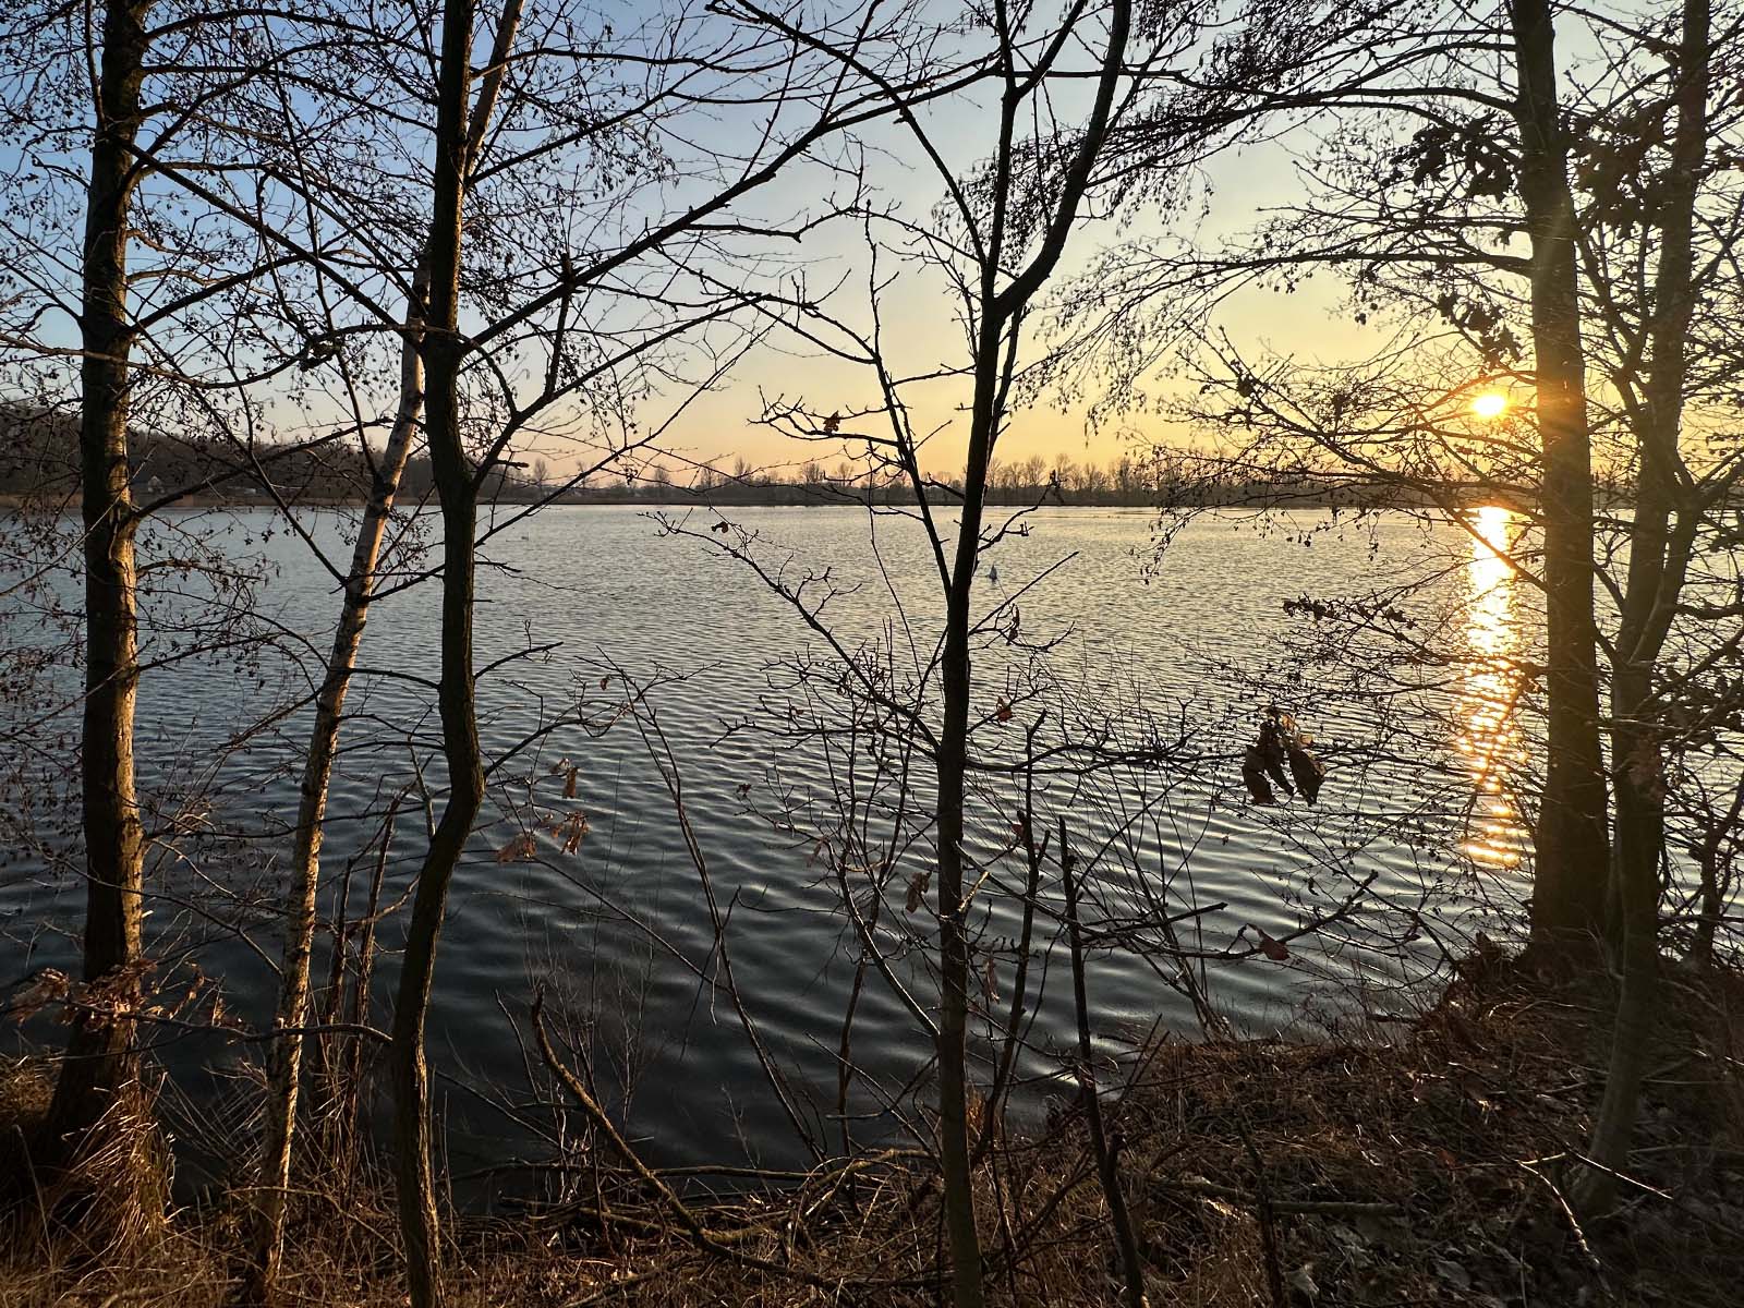
[[[614,371],[633,364],[645,368],[647,375],[671,382],[673,359],[661,361],[661,352],[671,356],[687,333],[701,333],[731,314],[743,312],[750,298],[739,281],[722,272],[720,265],[731,249],[722,242],[727,237],[760,237],[766,228],[780,230],[780,220],[736,215],[734,221],[726,221],[720,218],[722,211],[753,195],[794,160],[804,159],[818,141],[888,112],[875,96],[839,96],[835,89],[839,78],[811,77],[804,63],[795,66],[794,56],[771,63],[769,52],[778,49],[778,42],[771,42],[757,30],[752,30],[748,42],[729,37],[724,45],[719,33],[708,37],[705,31],[712,44],[696,56],[673,56],[666,45],[654,59],[626,56],[624,63],[630,68],[673,68],[670,89],[656,87],[624,113],[603,115],[603,129],[598,120],[582,115],[579,127],[553,124],[542,141],[528,146],[527,138],[534,131],[528,115],[548,103],[558,105],[560,98],[551,96],[548,82],[541,84],[539,94],[523,94],[525,85],[549,73],[542,73],[539,65],[546,51],[535,49],[528,58],[516,56],[521,9],[518,0],[509,0],[497,14],[485,72],[476,77],[476,96],[471,68],[478,40],[476,5],[469,0],[450,0],[443,9],[438,115],[433,127],[436,166],[427,195],[427,239],[419,263],[429,279],[429,295],[422,312],[417,314],[417,333],[406,333],[399,323],[382,323],[380,309],[354,293],[359,305],[373,314],[378,330],[417,337],[426,370],[427,441],[443,521],[438,708],[450,788],[415,881],[391,1046],[398,1196],[408,1280],[417,1305],[439,1303],[443,1292],[424,1024],[448,888],[478,818],[487,773],[478,741],[473,668],[474,555],[488,535],[478,530],[481,487],[501,473],[511,443],[520,434],[532,431],[542,413],[596,378],[610,378]],[[661,40],[668,40],[666,33],[659,35]],[[865,31],[860,37],[867,40]],[[563,75],[577,87],[582,85],[582,78],[598,77],[591,52],[574,54],[558,49],[549,58],[567,70]],[[828,61],[820,61],[816,56],[809,56],[807,63],[828,72]],[[516,176],[530,178],[528,185],[539,187],[539,173],[548,155],[591,141],[602,131],[616,129],[623,122],[637,122],[637,113],[647,113],[666,99],[680,106],[694,103],[696,89],[691,80],[701,73],[720,78],[729,87],[734,80],[743,80],[748,87],[717,89],[715,105],[727,103],[727,94],[738,94],[739,103],[750,112],[767,119],[762,131],[753,134],[757,146],[748,157],[719,153],[713,157],[706,173],[712,185],[701,199],[682,209],[656,213],[619,244],[600,249],[560,246],[556,256],[541,263],[528,277],[530,290],[516,288],[513,293],[504,293],[490,274],[476,281],[469,277],[467,249],[480,242],[476,220],[469,216],[474,204],[502,220],[513,220],[511,211],[495,206],[501,206],[502,192],[513,194]],[[516,113],[514,126],[520,136],[490,133],[490,113],[499,92],[504,105],[513,106]],[[809,119],[792,134],[776,134],[771,124],[785,126],[785,115],[795,110],[809,113]],[[497,157],[499,150],[506,153]],[[187,174],[178,181],[188,188],[199,187],[199,181]],[[535,225],[542,221],[539,206],[528,208],[527,213]],[[321,260],[321,269],[338,276],[326,258]],[[638,269],[645,270],[659,291],[649,293],[635,284]],[[673,290],[685,279],[698,288],[692,298]],[[631,307],[666,300],[675,314],[652,324],[645,314],[637,314],[619,328],[612,328],[609,319],[603,324],[577,321],[581,302],[589,296],[610,300],[614,293],[623,295],[623,302]],[[481,302],[485,323],[462,331],[459,305],[466,295]],[[715,342],[703,351],[708,363],[705,373],[689,382],[691,392],[713,385],[746,340],[741,337],[736,345],[726,349]],[[530,396],[523,396],[516,394],[511,384],[514,375],[511,361],[528,354],[539,359],[535,377],[541,384]],[[682,410],[682,403],[678,408]],[[607,448],[605,457],[593,459],[567,485],[624,453],[647,452],[659,434],[661,427],[656,426]],[[657,483],[670,483],[664,460],[656,459],[652,467]],[[546,497],[563,488],[551,488]],[[508,521],[514,520],[511,516]],[[495,523],[492,532],[501,532],[504,525],[504,521]],[[495,760],[490,766],[499,764],[501,760]],[[314,865],[305,862],[298,881],[298,896],[303,903],[309,902],[312,875]],[[302,916],[298,926],[307,930],[309,917]],[[284,1017],[288,1015],[286,1008]],[[286,1029],[295,1031],[295,1027]],[[283,1167],[283,1155],[274,1158],[274,1167]],[[267,1181],[272,1184],[270,1175]]]

